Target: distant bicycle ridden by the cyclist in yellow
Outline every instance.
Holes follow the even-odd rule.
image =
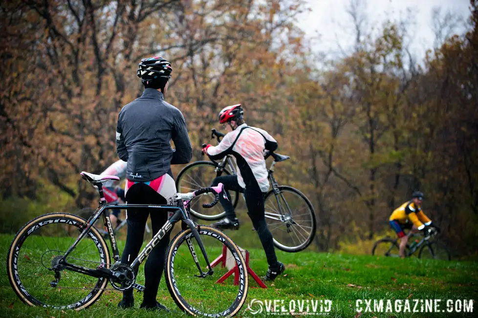
[[[418,251],[418,258],[433,258],[433,259],[443,259],[450,260],[451,255],[448,249],[441,243],[437,241],[432,241],[436,236],[436,231],[429,229],[427,233],[419,239],[413,240],[412,244],[407,244],[405,249],[405,257],[412,256],[416,251]],[[410,237],[418,234],[412,234]],[[393,238],[382,238],[373,244],[372,255],[385,255],[390,257],[400,257],[399,245],[397,239]]]

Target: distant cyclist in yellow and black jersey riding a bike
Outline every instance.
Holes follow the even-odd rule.
[[[427,233],[430,228],[440,232],[440,229],[422,211],[421,204],[423,198],[423,192],[414,191],[412,200],[403,203],[390,215],[390,226],[400,238],[399,255],[402,258],[405,257],[405,248],[411,234],[419,233],[420,231]],[[403,232],[405,229],[410,230],[407,235]]]

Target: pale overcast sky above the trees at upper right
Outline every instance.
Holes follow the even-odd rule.
[[[365,12],[369,24],[379,26],[381,22],[391,18],[400,19],[406,16],[407,8],[412,8],[416,24],[410,30],[412,37],[411,50],[421,60],[425,51],[433,47],[434,32],[432,30],[432,10],[441,7],[467,19],[470,15],[469,0],[362,0],[366,2]],[[350,0],[308,0],[311,12],[303,14],[299,26],[309,39],[320,35],[313,42],[316,50],[335,54],[340,46],[349,49],[353,43],[352,22],[346,12]],[[334,53],[331,53],[334,52]]]

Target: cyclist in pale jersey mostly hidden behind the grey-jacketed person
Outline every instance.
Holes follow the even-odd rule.
[[[109,166],[105,171],[101,172],[100,175],[115,175],[122,180],[126,177],[126,162],[120,159]],[[121,189],[118,185],[118,181],[114,180],[108,180],[103,183],[103,193],[105,194],[107,203],[119,202],[120,200],[123,202],[126,201],[125,190]],[[121,223],[119,219],[120,212],[120,209],[112,209],[109,214],[109,220],[114,227]]]

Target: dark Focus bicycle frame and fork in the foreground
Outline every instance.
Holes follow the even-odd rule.
[[[101,269],[90,269],[90,268],[87,268],[87,267],[78,266],[78,265],[75,265],[75,264],[70,264],[66,261],[66,257],[68,256],[68,254],[70,254],[76,248],[77,244],[87,235],[87,233],[89,233],[93,224],[95,224],[95,222],[98,220],[98,218],[103,214],[103,220],[105,221],[105,225],[106,225],[107,232],[108,232],[108,235],[109,235],[109,240],[110,240],[111,247],[112,247],[112,250],[113,250],[112,251],[113,252],[113,258],[114,258],[115,262],[120,262],[121,258],[120,258],[118,246],[116,244],[116,239],[115,239],[115,236],[114,236],[113,228],[111,226],[111,221],[109,219],[108,210],[110,210],[110,209],[128,209],[128,208],[145,208],[145,209],[162,209],[162,210],[169,210],[169,211],[176,210],[176,212],[174,212],[174,214],[166,221],[166,223],[158,231],[158,233],[153,235],[151,241],[138,254],[138,256],[132,261],[132,263],[130,265],[131,268],[134,269],[135,267],[139,266],[139,264],[141,264],[141,262],[143,262],[146,259],[146,257],[151,253],[152,249],[159,243],[159,241],[166,235],[166,233],[168,233],[168,231],[173,228],[174,224],[181,220],[185,224],[187,224],[187,226],[191,229],[193,235],[196,238],[196,241],[199,244],[199,248],[201,250],[201,253],[204,256],[207,267],[209,269],[208,272],[206,272],[206,273],[204,273],[202,271],[202,269],[199,265],[199,262],[197,260],[196,251],[194,249],[194,246],[193,246],[191,241],[188,241],[187,244],[189,246],[189,251],[191,252],[191,255],[193,256],[193,259],[196,262],[196,266],[197,266],[197,268],[199,270],[199,273],[200,273],[199,276],[204,277],[204,276],[213,274],[213,270],[212,270],[211,264],[209,262],[209,258],[207,256],[204,245],[201,241],[201,238],[199,237],[199,233],[198,233],[193,221],[188,216],[189,213],[184,208],[184,203],[183,203],[182,199],[177,199],[176,200],[177,206],[148,205],[148,204],[107,204],[106,200],[104,198],[104,194],[103,194],[101,184],[98,184],[97,186],[98,186],[98,191],[100,192],[100,205],[96,209],[96,211],[89,217],[89,219],[86,222],[86,224],[87,224],[86,227],[82,229],[82,232],[80,233],[80,235],[78,236],[76,241],[73,243],[73,245],[70,246],[70,248],[63,255],[63,258],[59,261],[60,265],[64,266],[64,268],[66,268],[70,271],[77,272],[77,273],[80,273],[80,274],[85,274],[85,275],[93,276],[93,277],[97,277],[97,278],[100,278],[100,277],[112,278],[113,277],[112,272],[108,273],[108,271],[104,271],[104,270],[102,271]],[[186,205],[188,205],[189,201],[186,201],[185,203],[186,203]],[[183,229],[184,229],[184,225],[183,225]],[[99,244],[99,243],[97,243],[97,244]],[[143,286],[138,285],[138,284],[133,284],[132,287],[137,288],[139,290],[142,290],[144,288]]]

